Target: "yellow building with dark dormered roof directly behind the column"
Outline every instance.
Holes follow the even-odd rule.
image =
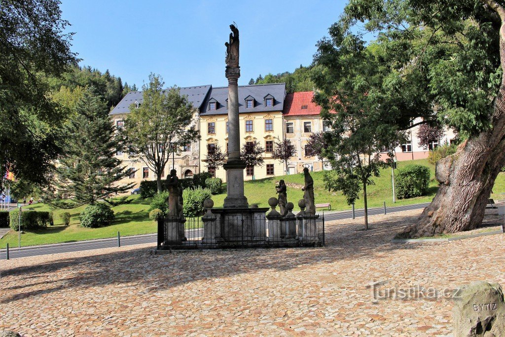
[[[282,139],[282,111],[286,95],[285,83],[244,85],[238,87],[240,147],[258,141],[265,148],[264,164],[247,167],[244,179],[261,179],[282,175],[283,165],[272,159],[275,140]],[[200,169],[226,181],[223,168],[207,167],[208,154],[219,146],[226,153],[228,143],[228,87],[213,87],[200,113]]]

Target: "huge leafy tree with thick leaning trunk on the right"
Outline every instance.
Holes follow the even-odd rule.
[[[439,121],[466,139],[437,162],[437,195],[403,237],[469,230],[482,222],[505,161],[503,5],[354,0],[318,43],[321,69],[313,78],[326,109],[336,105],[330,98],[346,99],[340,84],[352,77],[352,90],[364,86],[375,99],[364,110],[380,116],[374,122],[383,128],[407,130],[422,118],[419,123]],[[377,40],[367,47],[364,36],[370,35]]]

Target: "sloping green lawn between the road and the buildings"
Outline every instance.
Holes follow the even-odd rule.
[[[416,163],[428,166],[431,171],[430,188],[427,196],[412,198],[407,200],[397,200],[394,205],[410,205],[430,202],[435,196],[438,184],[434,179],[435,167],[430,165],[427,160],[416,160],[398,162],[398,167],[403,167],[410,163]],[[324,189],[323,172],[313,172],[314,179],[314,196],[316,204],[330,203],[332,210],[349,210],[350,206],[345,202],[345,198],[341,192],[329,192]],[[268,199],[276,197],[275,184],[284,179],[288,185],[287,199],[295,204],[295,211],[298,210],[298,200],[302,199],[303,192],[301,187],[304,185],[303,174],[292,174],[286,176],[276,176],[255,181],[246,181],[244,184],[245,196],[250,204],[258,204],[260,207],[268,207]],[[375,185],[369,186],[368,190],[368,206],[381,207],[383,202],[387,206],[392,206],[392,187],[391,187],[391,169],[381,170],[381,176],[375,178]],[[495,181],[493,194],[491,197],[494,200],[505,199],[505,173],[500,173]],[[213,196],[215,207],[222,207],[226,194]],[[78,240],[88,240],[95,238],[114,237],[118,231],[121,236],[154,233],[157,230],[156,223],[148,218],[147,209],[149,208],[149,199],[140,199],[139,196],[131,196],[134,201],[128,205],[114,207],[116,220],[109,226],[101,228],[83,228],[79,226],[79,213],[84,209],[79,207],[72,210],[53,210],[55,226],[49,226],[45,229],[29,231],[21,236],[22,246],[33,246],[43,244],[55,244],[63,242],[73,242]],[[31,208],[39,211],[50,211],[51,209],[44,204],[35,204]],[[356,208],[363,208],[363,200],[356,202]],[[60,214],[70,212],[72,218],[70,226],[62,225]],[[0,248],[5,248],[7,243],[11,247],[18,246],[17,232],[9,232],[6,236],[0,239]]]

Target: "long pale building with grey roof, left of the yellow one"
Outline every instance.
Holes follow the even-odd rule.
[[[188,100],[192,103],[194,108],[193,124],[199,127],[198,119],[200,109],[203,106],[204,101],[210,92],[211,85],[200,85],[180,88],[181,95],[187,95]],[[142,91],[130,91],[125,97],[119,102],[119,104],[111,111],[110,117],[116,125],[117,128],[123,126],[123,121],[126,115],[130,112],[130,105],[138,107],[142,104]],[[162,177],[166,177],[172,168],[177,170],[177,175],[179,177],[191,177],[193,174],[200,172],[200,144],[199,141],[195,141],[188,144],[183,149],[180,149],[179,153],[171,152],[170,160],[168,161],[165,172],[163,172]],[[123,165],[127,166],[131,170],[131,175],[127,179],[123,179],[121,183],[135,183],[138,187],[140,181],[142,180],[155,180],[156,175],[142,160],[131,159],[128,153],[117,151],[116,157],[123,162]]]

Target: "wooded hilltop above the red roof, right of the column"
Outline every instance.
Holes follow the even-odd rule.
[[[304,67],[300,64],[300,67],[292,73],[286,71],[277,75],[267,74],[265,77],[260,75],[256,80],[251,78],[249,84],[286,83],[287,92],[312,91],[314,90],[314,82],[311,80],[311,71],[311,67]]]

